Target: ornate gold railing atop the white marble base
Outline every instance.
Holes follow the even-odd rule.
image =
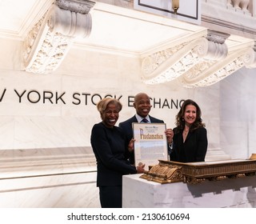
[[[205,180],[218,181],[226,178],[241,178],[256,174],[256,154],[246,160],[212,162],[173,162],[159,160],[158,165],[140,178],[159,183],[199,183]]]

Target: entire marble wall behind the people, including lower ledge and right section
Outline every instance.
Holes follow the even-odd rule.
[[[254,70],[186,89],[178,82],[148,86],[139,68],[137,58],[74,47],[53,74],[30,74],[17,56],[1,55],[0,206],[99,207],[90,130],[100,122],[95,103],[106,95],[120,98],[121,122],[134,115],[133,96],[148,93],[150,114],[167,127],[178,113],[172,101],[192,98],[202,108],[210,154],[247,158],[254,151]]]

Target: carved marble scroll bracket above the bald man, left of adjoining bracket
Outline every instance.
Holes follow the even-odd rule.
[[[170,82],[186,74],[182,83],[188,86],[187,80],[198,78],[203,70],[226,58],[228,48],[225,41],[229,36],[208,30],[206,37],[146,56],[142,59],[143,81],[146,84]]]

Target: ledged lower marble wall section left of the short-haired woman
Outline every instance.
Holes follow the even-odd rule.
[[[0,150],[0,208],[97,208],[89,147]]]

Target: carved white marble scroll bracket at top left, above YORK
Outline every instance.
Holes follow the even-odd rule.
[[[56,70],[65,58],[74,38],[90,35],[90,9],[95,2],[57,0],[30,30],[24,41],[26,71],[47,74]]]

